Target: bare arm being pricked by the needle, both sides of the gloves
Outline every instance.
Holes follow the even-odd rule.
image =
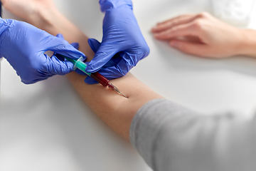
[[[19,2],[21,0],[16,1]],[[29,3],[28,1],[34,2],[35,0],[26,0],[26,4]],[[43,5],[42,3],[44,1],[47,3],[50,2],[49,0],[41,0],[41,5]],[[18,2],[17,4],[20,9],[25,8],[24,3]],[[6,9],[12,11],[12,6],[8,6]],[[65,19],[57,9],[51,8],[48,13],[34,15],[36,17],[26,16],[24,15],[25,12],[26,11],[23,11],[21,16],[23,19],[53,35],[62,33],[64,38],[70,43],[78,42],[80,44],[79,50],[85,53],[88,61],[93,58],[94,53],[87,43],[87,36],[71,24],[68,19]],[[40,21],[43,21],[44,24],[42,25]],[[75,90],[78,91],[82,99],[95,114],[127,140],[129,140],[129,127],[137,110],[149,100],[162,98],[161,95],[155,93],[130,73],[128,73],[127,76],[111,81],[124,95],[127,95],[128,99],[100,84],[86,84],[84,82],[86,76],[79,75],[75,72],[69,73],[67,76]]]

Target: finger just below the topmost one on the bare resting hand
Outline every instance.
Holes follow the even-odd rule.
[[[178,36],[200,36],[201,30],[196,22],[174,26],[159,33],[154,33],[154,37],[159,40],[169,40]]]

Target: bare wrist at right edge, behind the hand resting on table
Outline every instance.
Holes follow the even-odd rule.
[[[256,57],[256,31],[241,29],[241,39],[238,43],[238,55]]]

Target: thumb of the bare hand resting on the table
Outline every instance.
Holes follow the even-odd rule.
[[[170,46],[184,53],[191,53],[198,56],[206,56],[207,45],[200,43],[190,43],[188,41],[173,40],[170,41]]]

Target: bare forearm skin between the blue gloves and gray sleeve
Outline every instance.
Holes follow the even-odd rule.
[[[92,111],[127,140],[129,127],[137,110],[149,100],[162,98],[130,73],[111,81],[128,99],[99,84],[84,83],[85,76],[77,73],[68,74],[68,78]]]

